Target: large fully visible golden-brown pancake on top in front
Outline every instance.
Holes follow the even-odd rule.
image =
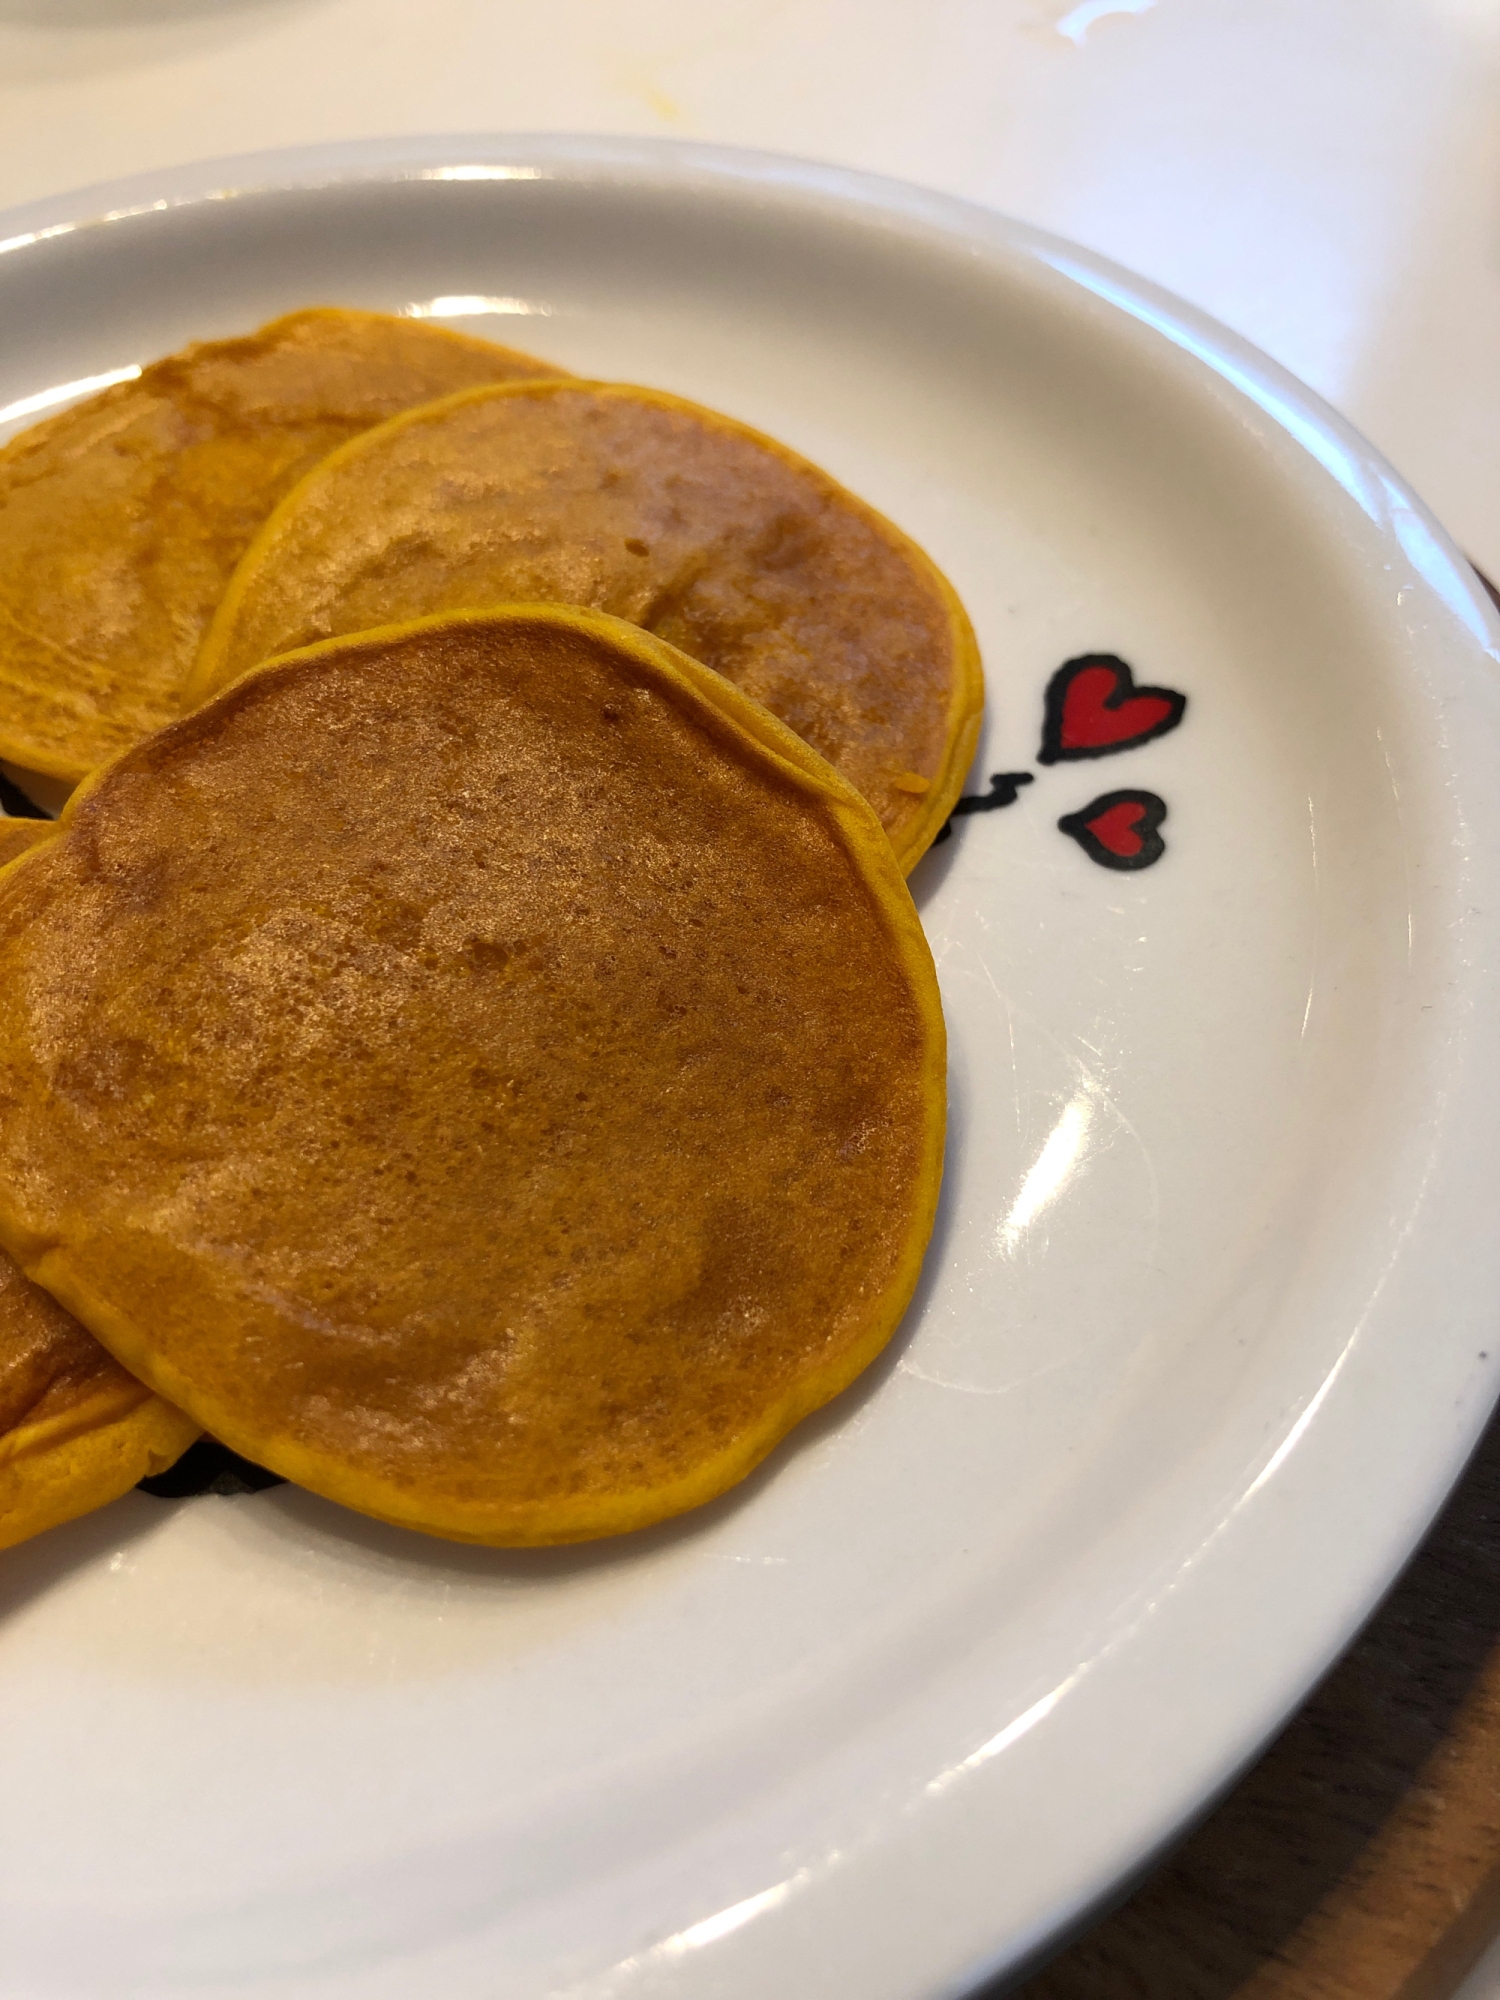
[[[132,1372],[496,1544],[742,1478],[890,1336],[942,1162],[874,814],[560,608],[310,648],[98,772],[0,876],[0,1238]]]

